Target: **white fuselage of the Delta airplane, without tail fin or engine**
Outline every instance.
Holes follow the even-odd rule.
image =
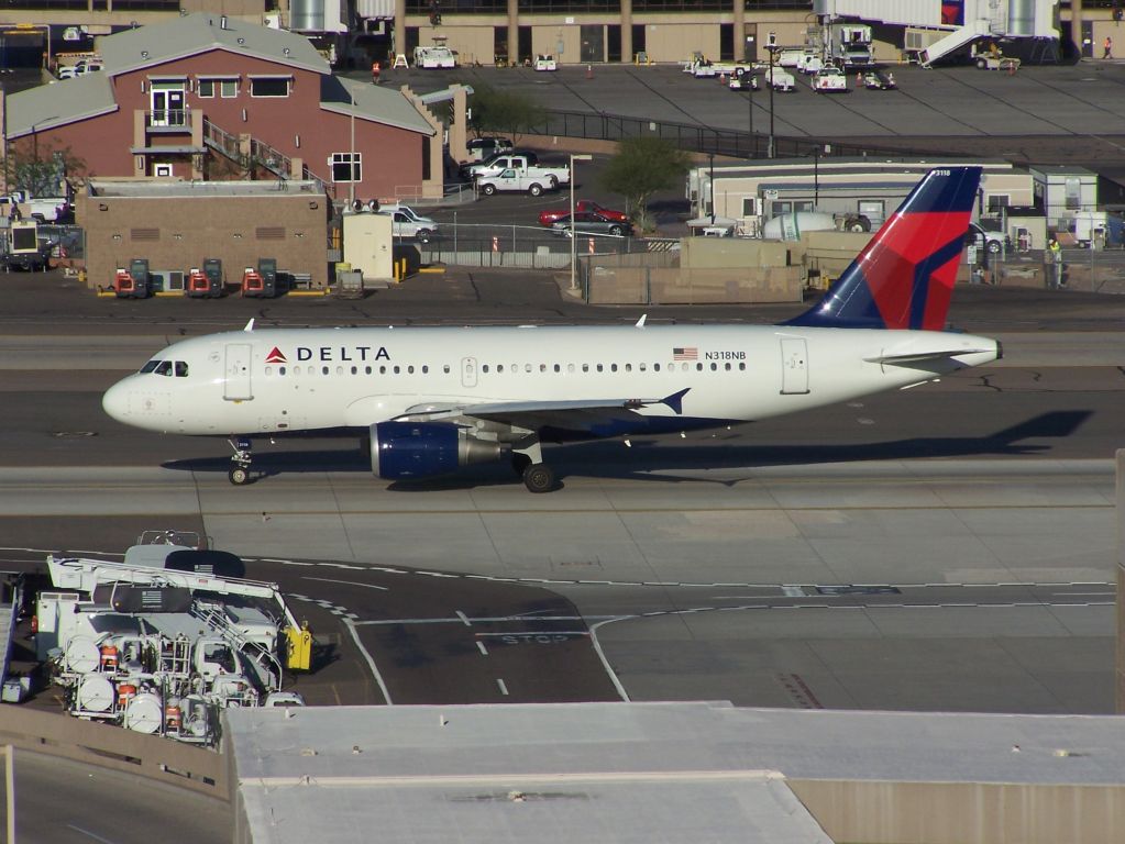
[[[267,328],[176,343],[102,403],[140,428],[227,436],[366,428],[504,402],[637,399],[654,403],[639,407],[633,430],[677,430],[830,405],[998,353],[996,341],[972,335],[852,328]],[[659,402],[683,390],[681,412]]]

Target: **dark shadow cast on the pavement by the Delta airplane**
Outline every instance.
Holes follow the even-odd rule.
[[[982,436],[909,437],[872,443],[745,445],[695,442],[682,445],[680,441],[667,438],[633,438],[632,448],[626,448],[620,441],[603,439],[551,448],[547,452],[547,460],[560,480],[574,475],[711,483],[716,481],[704,478],[669,478],[652,473],[918,457],[1036,455],[1050,451],[1051,445],[1025,441],[1069,437],[1092,415],[1091,410],[1054,410]],[[750,429],[749,425],[745,428]],[[168,461],[162,465],[164,469],[184,472],[225,473],[231,468],[231,461],[225,456],[195,457]],[[262,448],[254,452],[251,470],[254,480],[313,472],[370,473],[370,456],[367,448],[306,451]],[[507,485],[515,482],[518,479],[506,463],[495,463],[467,466],[454,474],[441,478],[395,481],[388,489],[396,492],[426,492]]]

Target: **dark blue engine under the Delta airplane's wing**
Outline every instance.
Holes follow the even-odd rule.
[[[387,481],[448,474],[501,456],[500,443],[469,436],[465,428],[451,423],[371,426],[371,471]]]

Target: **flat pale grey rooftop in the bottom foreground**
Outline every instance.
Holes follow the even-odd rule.
[[[809,842],[784,779],[1125,782],[1116,717],[560,704],[228,709],[251,837]],[[522,799],[521,799],[522,798]],[[325,824],[324,818],[332,823]]]

